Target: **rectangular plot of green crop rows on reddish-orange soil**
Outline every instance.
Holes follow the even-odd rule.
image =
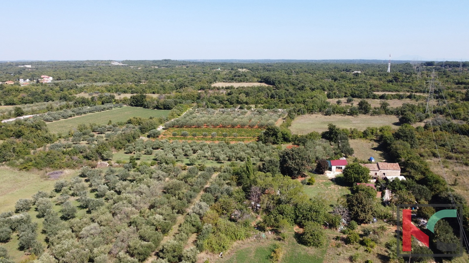
[[[188,141],[221,141],[228,138],[229,141],[233,142],[245,142],[252,141],[256,138],[264,129],[262,128],[176,128],[171,127],[165,130],[161,138],[167,138],[169,140],[188,140]],[[182,132],[188,132],[187,137],[182,136]],[[215,137],[212,137],[212,133],[216,133]],[[176,136],[173,135],[176,134]],[[226,136],[223,136],[225,134]],[[195,136],[194,136],[195,135]],[[205,136],[204,136],[205,135]]]

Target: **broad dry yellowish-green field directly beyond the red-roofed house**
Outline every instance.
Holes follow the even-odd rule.
[[[384,125],[398,128],[397,124],[399,123],[399,119],[390,115],[360,115],[353,117],[343,115],[324,116],[320,114],[307,114],[296,118],[292,122],[290,130],[294,134],[308,134],[312,131],[323,132],[327,130],[327,125],[329,123],[332,123],[341,129],[357,128],[362,131],[366,129],[366,127],[381,127]]]

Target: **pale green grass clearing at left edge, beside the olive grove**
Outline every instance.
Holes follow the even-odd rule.
[[[78,171],[67,170],[61,179],[69,180],[77,176]],[[28,198],[38,191],[50,192],[54,189],[55,180],[46,179],[42,173],[17,171],[0,166],[0,213],[15,211],[18,199]]]

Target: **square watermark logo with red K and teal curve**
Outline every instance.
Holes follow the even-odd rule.
[[[463,255],[463,233],[462,219],[463,212],[462,204],[396,204],[397,205],[397,229],[401,229],[401,210],[402,210],[402,250],[401,237],[397,236],[397,256],[408,257],[412,249],[412,237],[423,243],[425,246],[430,247],[430,240],[436,243],[436,248],[439,251],[445,252],[440,254],[411,254],[414,257],[461,257]],[[419,207],[435,207],[438,212],[434,213],[426,223],[424,232],[412,223],[412,210],[419,209]],[[435,224],[444,218],[454,219],[459,223],[459,243],[444,243],[440,240],[434,240]],[[406,253],[405,253],[406,252]]]

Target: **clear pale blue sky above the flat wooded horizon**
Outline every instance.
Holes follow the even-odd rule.
[[[0,61],[469,60],[468,0],[14,0]]]

